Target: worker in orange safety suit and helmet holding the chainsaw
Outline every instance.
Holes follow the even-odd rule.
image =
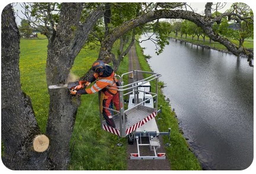
[[[101,60],[97,60],[92,64],[92,70],[94,70],[94,75],[88,81],[79,81],[79,86],[71,91],[72,95],[82,95],[82,94],[94,94],[95,92],[101,91],[102,102],[102,114],[105,118],[107,125],[111,127],[116,127],[114,120],[110,111],[107,109],[110,107],[111,102],[113,102],[116,110],[119,111],[119,94],[117,89],[118,80],[115,77],[114,70],[112,67]],[[89,84],[94,82],[91,88],[87,88]],[[110,86],[113,89],[107,89],[105,87]]]

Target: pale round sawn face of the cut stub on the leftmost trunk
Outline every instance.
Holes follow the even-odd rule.
[[[34,151],[44,152],[49,147],[49,138],[43,134],[37,135],[33,141]]]

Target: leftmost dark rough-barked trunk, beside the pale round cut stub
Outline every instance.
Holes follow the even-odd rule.
[[[2,162],[12,170],[46,169],[46,152],[33,150],[40,134],[30,98],[21,91],[20,36],[11,5],[2,11],[1,126],[4,154]]]

